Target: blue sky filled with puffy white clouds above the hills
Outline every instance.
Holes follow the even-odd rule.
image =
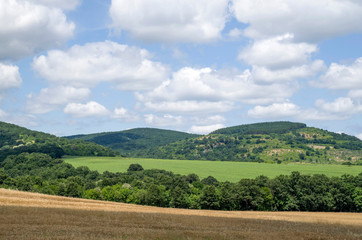
[[[0,121],[67,136],[303,122],[362,139],[360,0],[1,0]]]

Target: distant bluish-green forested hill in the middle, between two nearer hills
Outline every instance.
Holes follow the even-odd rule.
[[[148,149],[200,136],[201,135],[197,134],[156,128],[135,128],[118,132],[74,135],[66,138],[94,142],[110,147],[121,154],[134,156]]]

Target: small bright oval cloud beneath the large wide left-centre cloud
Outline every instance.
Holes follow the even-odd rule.
[[[101,117],[109,115],[109,111],[101,104],[90,101],[86,104],[69,103],[64,108],[64,113],[73,115],[77,118],[83,117]]]

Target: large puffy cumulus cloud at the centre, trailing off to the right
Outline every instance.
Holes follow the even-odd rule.
[[[235,103],[268,104],[293,94],[294,84],[257,84],[251,73],[224,73],[210,68],[182,68],[153,91],[139,93],[146,108],[159,112],[228,112]]]

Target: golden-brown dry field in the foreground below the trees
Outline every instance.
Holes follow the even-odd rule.
[[[165,209],[0,189],[0,239],[362,239],[362,214]]]

